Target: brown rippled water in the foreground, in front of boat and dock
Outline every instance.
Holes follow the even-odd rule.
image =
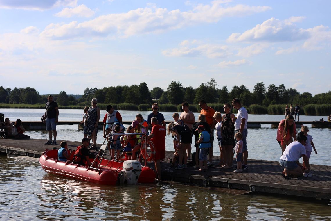
[[[0,220],[331,220],[330,202],[178,184],[102,186],[0,155]]]

